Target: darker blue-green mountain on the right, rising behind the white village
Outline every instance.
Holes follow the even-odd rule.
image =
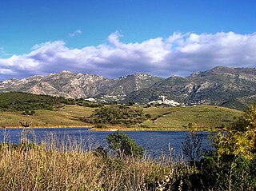
[[[222,105],[244,109],[256,101],[256,70],[218,66],[190,77],[170,77],[126,97],[126,101],[146,103],[160,96],[184,103]]]

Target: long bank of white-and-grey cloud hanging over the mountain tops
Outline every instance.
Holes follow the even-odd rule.
[[[110,34],[108,42],[70,49],[65,42],[35,45],[29,54],[0,59],[2,78],[24,78],[70,70],[115,78],[143,72],[168,78],[188,76],[214,66],[255,67],[256,34],[181,34],[124,43]]]

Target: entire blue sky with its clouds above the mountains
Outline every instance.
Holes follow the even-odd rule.
[[[256,67],[254,0],[1,0],[0,80]]]

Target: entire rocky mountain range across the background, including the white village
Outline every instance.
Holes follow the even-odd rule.
[[[195,72],[189,77],[172,76],[166,79],[140,73],[110,79],[62,71],[0,82],[0,93],[11,91],[68,98],[94,97],[98,101],[143,104],[166,101],[170,105],[204,103],[243,109],[256,101],[256,69],[218,66]]]

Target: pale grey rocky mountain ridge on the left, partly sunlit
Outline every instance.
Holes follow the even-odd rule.
[[[109,79],[94,74],[74,74],[62,71],[47,76],[0,82],[0,93],[18,91],[66,98],[123,97],[135,90],[150,87],[161,80],[162,78],[139,73]]]

